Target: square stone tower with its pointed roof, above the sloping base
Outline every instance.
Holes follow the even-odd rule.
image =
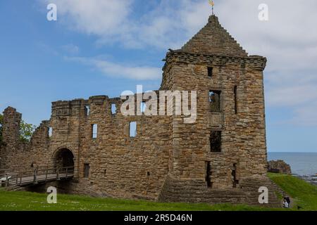
[[[161,89],[197,91],[197,122],[173,117],[173,179],[237,188],[266,177],[265,66],[266,58],[248,56],[216,15],[167,53]]]

